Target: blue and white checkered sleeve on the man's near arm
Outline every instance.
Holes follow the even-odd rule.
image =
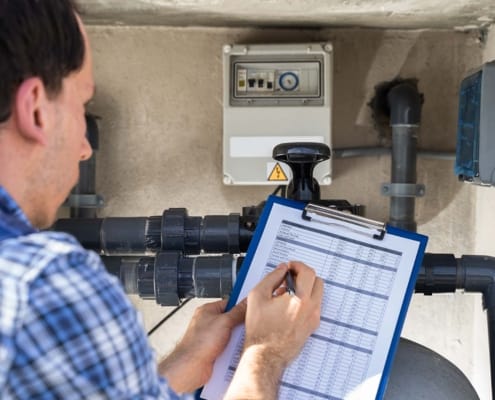
[[[95,253],[51,260],[31,283],[23,320],[9,379],[16,398],[190,398],[158,375],[136,310]]]

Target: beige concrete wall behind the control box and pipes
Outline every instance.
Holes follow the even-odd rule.
[[[476,34],[452,31],[91,26],[89,34],[98,86],[90,111],[101,117],[97,191],[107,202],[102,216],[160,215],[170,207],[223,215],[271,193],[269,187],[222,184],[223,44],[332,42],[338,148],[387,143],[367,103],[376,84],[400,76],[417,78],[425,96],[419,146],[453,151],[458,84],[483,57],[495,54],[493,35],[484,50]],[[322,188],[322,198],[364,204],[368,217],[386,220],[388,201],[379,188],[389,181],[389,170],[388,156],[334,160],[334,182]],[[493,204],[483,197],[487,190],[482,194],[459,183],[452,161],[419,159],[418,182],[427,186],[417,202],[417,220],[418,230],[430,236],[428,251],[457,256],[494,251],[489,243],[478,244],[483,217],[477,207]],[[170,311],[133,301],[149,329]],[[158,355],[171,349],[198,303],[189,303],[150,337]],[[480,310],[476,295],[416,295],[404,336],[452,360],[488,399]]]

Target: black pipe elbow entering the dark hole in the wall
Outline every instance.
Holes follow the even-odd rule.
[[[423,99],[411,82],[401,82],[387,95],[390,109],[390,125],[419,125]]]

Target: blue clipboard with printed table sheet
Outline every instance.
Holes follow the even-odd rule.
[[[279,399],[383,398],[426,243],[376,221],[268,198],[227,307],[281,262],[302,261],[324,281],[320,326],[285,370]],[[222,398],[243,337],[239,326],[201,398]]]

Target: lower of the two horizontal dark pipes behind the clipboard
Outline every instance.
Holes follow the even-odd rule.
[[[108,271],[119,277],[126,293],[173,306],[189,297],[228,296],[243,257],[193,258],[184,257],[180,252],[164,252],[157,257],[114,256],[102,257],[102,260]],[[432,295],[452,293],[457,289],[483,295],[483,305],[487,309],[492,388],[495,388],[495,258],[425,254],[416,280],[416,293]]]

